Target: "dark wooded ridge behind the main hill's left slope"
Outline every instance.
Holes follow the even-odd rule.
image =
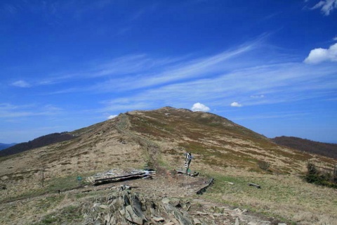
[[[67,132],[62,133],[54,133],[54,134],[48,134],[45,136],[40,136],[37,139],[34,139],[33,141],[23,142],[15,144],[14,146],[9,146],[9,148],[5,148],[4,150],[0,151],[0,157],[7,156],[7,155],[13,155],[16,153],[22,153],[26,150],[30,150],[33,148],[40,148],[43,146],[48,146],[51,143],[58,143],[61,141],[67,141],[70,139],[74,139],[74,135],[69,134]]]

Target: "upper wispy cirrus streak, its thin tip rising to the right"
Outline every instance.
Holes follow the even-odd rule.
[[[48,94],[81,91],[110,92],[144,89],[186,79],[199,78],[205,75],[209,76],[213,73],[223,72],[224,66],[227,69],[231,67],[231,63],[226,62],[253,51],[263,38],[264,36],[242,46],[237,46],[237,48],[233,48],[230,51],[223,51],[204,58],[178,56],[176,58],[154,59],[146,54],[121,56],[110,60],[110,62],[93,63],[91,68],[86,68],[79,72],[48,77],[40,82],[39,85],[95,79],[95,82],[89,86],[72,86],[72,88],[67,88],[66,90],[51,90]]]

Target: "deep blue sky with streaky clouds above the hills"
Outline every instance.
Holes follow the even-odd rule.
[[[0,1],[0,142],[204,110],[337,142],[337,0]]]

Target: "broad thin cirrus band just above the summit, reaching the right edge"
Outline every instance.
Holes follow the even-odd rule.
[[[217,77],[167,84],[103,104],[107,110],[124,110],[134,108],[134,105],[143,108],[154,108],[158,104],[185,107],[191,101],[195,102],[195,98],[207,101],[213,108],[231,102],[233,98],[239,99],[232,104],[234,107],[243,105],[242,102],[246,106],[289,103],[329,96],[336,89],[337,79],[333,76],[336,72],[337,68],[332,65],[314,65],[314,68],[304,63],[263,65],[224,72]]]

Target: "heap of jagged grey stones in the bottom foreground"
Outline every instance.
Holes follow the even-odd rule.
[[[184,207],[171,205],[167,198],[145,199],[140,193],[115,191],[107,198],[96,200],[94,204],[82,206],[83,224],[193,224],[193,219]],[[180,203],[184,204],[184,203]]]

